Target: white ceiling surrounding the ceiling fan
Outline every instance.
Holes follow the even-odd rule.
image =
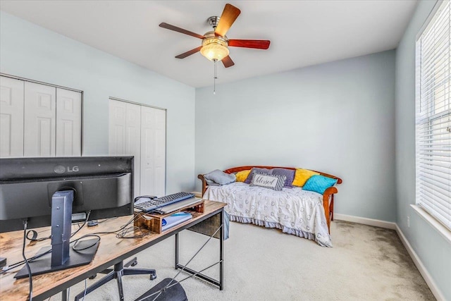
[[[217,83],[395,49],[416,0],[330,1],[0,1],[11,13],[192,87],[213,84],[214,63],[200,53],[174,56],[201,40],[226,3],[241,14],[229,39],[269,39],[268,50],[230,47],[235,66],[218,65]]]

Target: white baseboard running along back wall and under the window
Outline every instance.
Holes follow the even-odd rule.
[[[437,299],[438,301],[445,301],[445,297],[443,297],[443,294],[438,288],[438,286],[435,285],[435,282],[433,281],[431,274],[429,274],[423,262],[421,262],[420,258],[412,248],[412,245],[410,245],[409,241],[404,236],[404,233],[402,233],[400,227],[398,227],[396,223],[390,223],[389,221],[380,221],[378,219],[366,219],[364,217],[351,216],[346,214],[333,214],[333,219],[334,220],[338,219],[340,221],[351,221],[353,223],[362,223],[368,226],[375,226],[395,230],[402,242],[402,245],[404,245],[410,257],[412,258],[412,261],[414,262],[416,269],[419,270],[421,276],[423,276],[424,278],[424,281],[426,281],[426,284],[428,285],[429,289],[431,289],[431,292],[433,293],[435,299]]]

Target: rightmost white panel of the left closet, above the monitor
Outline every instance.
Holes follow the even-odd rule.
[[[82,155],[82,94],[56,88],[56,156]]]

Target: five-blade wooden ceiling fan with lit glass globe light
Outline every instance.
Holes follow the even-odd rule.
[[[185,59],[185,57],[200,51],[210,61],[222,61],[224,67],[228,68],[235,65],[228,55],[228,47],[268,49],[270,43],[267,39],[228,39],[226,32],[228,32],[230,26],[240,16],[240,13],[240,9],[231,4],[226,4],[221,18],[217,16],[208,18],[208,22],[214,28],[214,31],[206,32],[204,35],[198,35],[195,32],[190,32],[189,30],[184,30],[183,28],[168,23],[161,23],[159,26],[202,39],[201,46],[179,54],[175,58]]]

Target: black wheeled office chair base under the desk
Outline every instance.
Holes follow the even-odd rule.
[[[90,285],[89,288],[83,290],[81,293],[75,296],[75,301],[78,301],[82,299],[85,295],[91,293],[93,290],[96,290],[97,288],[101,287],[101,285],[104,285],[105,283],[109,282],[110,280],[116,279],[118,281],[118,290],[119,290],[119,300],[124,300],[124,291],[122,286],[122,276],[126,275],[142,275],[142,274],[149,274],[150,280],[154,280],[156,278],[156,271],[154,269],[129,269],[128,266],[135,266],[137,265],[137,258],[133,257],[132,260],[127,262],[126,264],[123,264],[123,261],[117,263],[114,265],[113,269],[106,269],[104,271],[101,271],[102,274],[106,274],[104,278],[101,278],[99,281],[94,283],[93,285]],[[89,279],[94,279],[97,275],[89,277]]]

